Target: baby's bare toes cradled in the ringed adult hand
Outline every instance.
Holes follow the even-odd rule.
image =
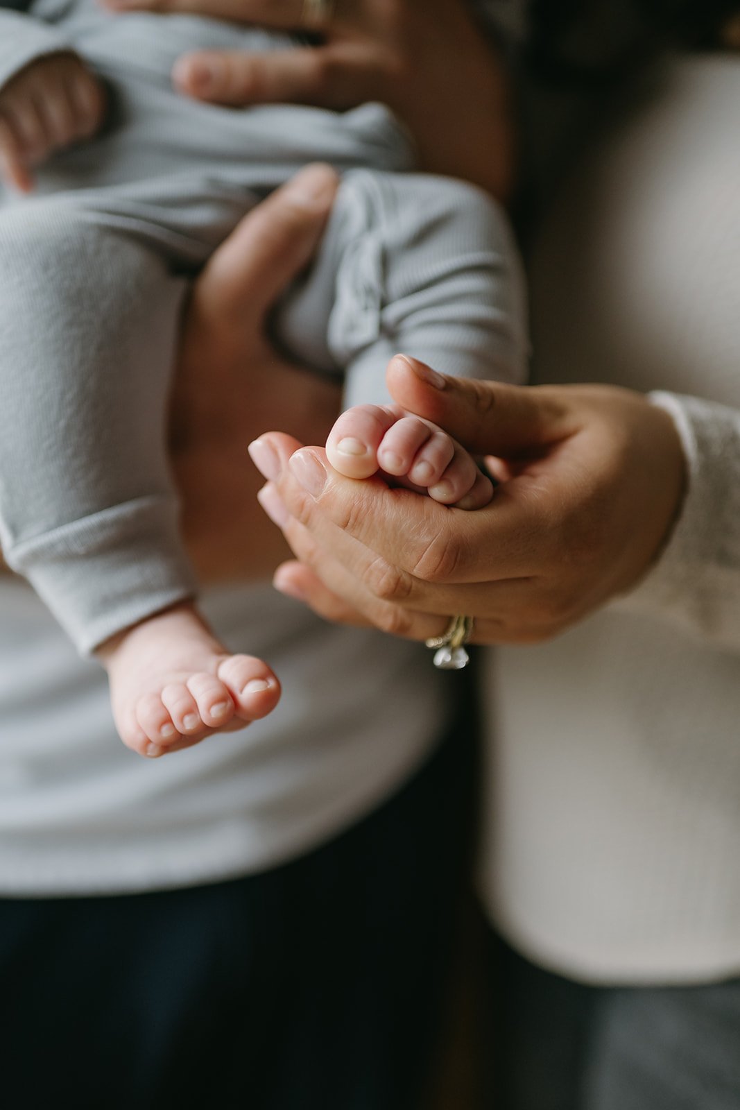
[[[348,478],[367,478],[381,470],[399,485],[458,508],[481,508],[494,493],[465,447],[398,405],[347,408],[330,432],[326,456]]]

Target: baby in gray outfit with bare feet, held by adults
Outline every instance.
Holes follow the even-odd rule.
[[[275,333],[343,376],[348,411],[327,451],[348,476],[381,467],[481,504],[489,488],[465,452],[384,406],[385,366],[403,350],[466,376],[524,374],[503,213],[472,186],[413,173],[386,109],[233,110],[171,87],[187,50],[294,41],[93,0],[0,11],[0,541],[78,649],[99,655],[119,733],[143,755],[241,727],[280,696],[193,603],[165,447],[183,299],[239,220],[306,162],[343,174]]]

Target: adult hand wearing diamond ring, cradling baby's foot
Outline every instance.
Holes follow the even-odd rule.
[[[388,385],[404,408],[493,456],[494,500],[449,508],[344,478],[290,436],[261,436],[251,448],[270,480],[261,498],[300,559],[277,571],[284,593],[330,619],[416,639],[465,613],[476,643],[528,643],[629,589],[658,556],[685,461],[672,421],[641,395],[456,381],[404,357]]]

